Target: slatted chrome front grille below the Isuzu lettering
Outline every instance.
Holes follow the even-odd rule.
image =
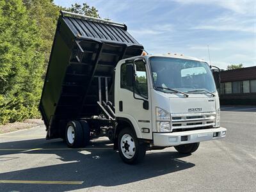
[[[207,129],[213,127],[216,113],[173,113],[172,115],[172,131],[177,130],[191,131],[193,129]]]

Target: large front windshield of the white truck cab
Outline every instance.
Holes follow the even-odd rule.
[[[152,57],[150,66],[155,88],[169,88],[180,92],[207,90],[212,93],[216,90],[211,69],[205,62]]]

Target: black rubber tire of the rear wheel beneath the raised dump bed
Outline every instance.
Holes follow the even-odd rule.
[[[74,131],[73,142],[71,141],[70,137],[68,137],[68,129],[71,130],[72,128],[68,128],[68,127],[73,127],[73,131]],[[79,121],[68,122],[66,132],[65,132],[65,138],[66,138],[66,143],[67,143],[68,147],[70,147],[70,148],[83,147],[83,143],[84,143],[83,128],[82,128],[81,124],[79,123]]]

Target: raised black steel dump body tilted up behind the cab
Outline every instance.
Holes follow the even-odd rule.
[[[99,115],[99,77],[113,99],[116,63],[142,52],[124,24],[61,12],[39,106],[47,138],[61,138],[69,120]]]

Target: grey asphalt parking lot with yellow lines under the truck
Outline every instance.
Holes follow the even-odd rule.
[[[0,191],[256,191],[256,106],[221,108],[223,140],[124,164],[107,138],[86,148],[45,140],[45,127],[0,135]]]

